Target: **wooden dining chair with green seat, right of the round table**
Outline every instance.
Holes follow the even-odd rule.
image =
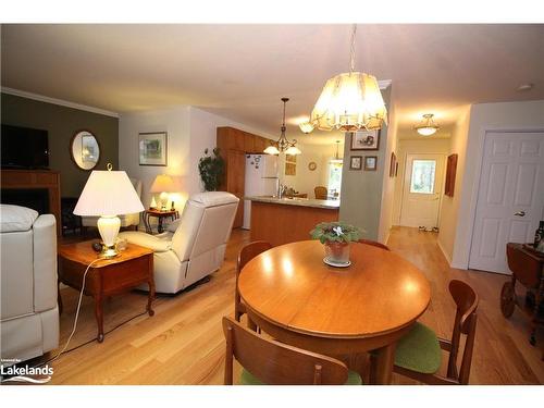
[[[397,343],[394,372],[426,384],[469,383],[479,299],[472,287],[461,281],[449,282],[449,293],[457,305],[452,341],[438,338],[431,329],[422,323],[416,323],[413,329]],[[466,341],[458,371],[457,357],[461,335],[466,336]],[[442,362],[441,349],[449,353],[445,378],[436,374]],[[372,360],[375,362],[374,357]]]

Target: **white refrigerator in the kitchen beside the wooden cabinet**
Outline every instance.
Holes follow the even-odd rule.
[[[277,194],[277,156],[247,154],[246,156],[246,197],[275,196]],[[244,200],[244,230],[251,224],[251,201]]]

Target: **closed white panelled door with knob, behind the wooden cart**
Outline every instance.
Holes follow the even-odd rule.
[[[544,133],[487,133],[469,268],[510,274],[507,243],[529,243],[544,215]]]

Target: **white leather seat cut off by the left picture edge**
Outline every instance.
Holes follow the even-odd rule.
[[[55,219],[1,205],[0,245],[1,358],[24,361],[59,346]]]

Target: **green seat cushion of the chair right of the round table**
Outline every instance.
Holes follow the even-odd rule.
[[[438,371],[442,351],[436,334],[426,325],[416,323],[412,330],[397,343],[395,366],[433,374]]]

